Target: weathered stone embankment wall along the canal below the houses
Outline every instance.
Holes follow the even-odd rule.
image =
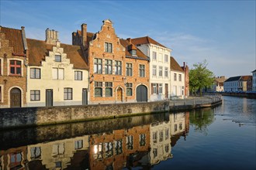
[[[3,130],[6,128],[157,114],[168,111],[214,107],[218,104],[222,104],[221,96],[192,97],[185,100],[163,100],[129,104],[5,108],[0,109],[0,128]]]

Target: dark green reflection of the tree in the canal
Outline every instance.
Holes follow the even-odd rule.
[[[194,110],[189,117],[189,121],[190,125],[195,127],[195,131],[207,135],[207,127],[215,121],[213,110],[211,108]]]

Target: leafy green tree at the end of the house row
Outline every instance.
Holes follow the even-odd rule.
[[[207,65],[205,59],[202,63],[193,64],[193,68],[189,70],[189,89],[192,93],[199,90],[200,96],[202,96],[202,88],[209,87],[214,80],[214,74],[206,68]]]

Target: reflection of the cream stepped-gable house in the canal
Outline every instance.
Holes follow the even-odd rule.
[[[47,169],[65,169],[79,151],[88,150],[88,135],[27,146],[27,161],[41,161]],[[78,160],[77,160],[78,161]]]

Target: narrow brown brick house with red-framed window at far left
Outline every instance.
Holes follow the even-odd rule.
[[[0,107],[26,107],[25,28],[0,26]]]

